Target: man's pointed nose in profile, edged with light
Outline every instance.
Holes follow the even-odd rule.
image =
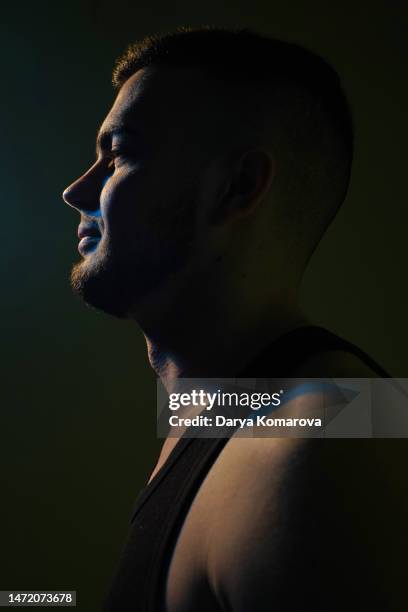
[[[104,184],[99,175],[95,164],[63,191],[64,202],[80,213],[98,216],[99,196]]]

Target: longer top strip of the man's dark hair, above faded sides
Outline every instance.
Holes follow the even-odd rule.
[[[227,83],[298,85],[320,102],[352,157],[353,121],[339,76],[322,57],[300,45],[247,28],[179,28],[131,44],[116,62],[113,84],[120,89],[132,74],[154,66],[196,68]]]

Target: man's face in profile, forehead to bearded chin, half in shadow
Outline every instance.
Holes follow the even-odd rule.
[[[170,76],[147,84],[143,76],[124,84],[99,131],[95,164],[64,192],[81,214],[73,287],[120,317],[191,263],[205,163]]]

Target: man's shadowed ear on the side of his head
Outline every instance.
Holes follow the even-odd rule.
[[[275,162],[266,149],[250,149],[230,167],[230,177],[217,199],[211,222],[218,225],[253,213],[268,193]]]

